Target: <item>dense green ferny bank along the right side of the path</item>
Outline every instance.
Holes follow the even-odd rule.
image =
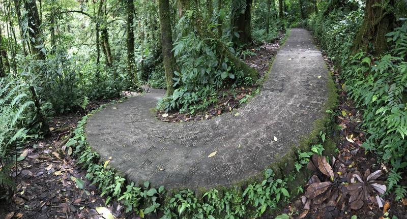
[[[405,6],[402,1],[398,4]],[[399,200],[407,195],[401,180],[407,167],[407,22],[402,11],[396,11],[398,27],[386,35],[389,51],[373,56],[352,49],[363,20],[357,2],[328,9],[311,16],[308,27],[340,70],[348,95],[362,109],[368,135],[363,146],[390,164],[387,191],[395,192]]]

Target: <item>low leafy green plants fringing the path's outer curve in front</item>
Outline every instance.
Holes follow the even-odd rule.
[[[101,107],[103,108],[103,107]],[[135,184],[126,180],[119,172],[110,167],[109,160],[103,161],[86,141],[86,115],[78,123],[74,137],[65,145],[72,150],[77,163],[86,170],[86,178],[96,184],[106,204],[112,199],[121,201],[126,211],[132,211],[143,218],[146,215],[168,218],[256,218],[261,215],[273,215],[291,198],[303,192],[302,186],[293,189],[293,184],[310,161],[311,155],[322,155],[326,133],[321,131],[316,137],[321,144],[310,145],[306,151],[298,150],[295,170],[284,177],[277,177],[273,169],[265,170],[255,180],[230,188],[213,188],[196,193],[193,190],[170,190],[163,186],[154,187],[149,181]],[[330,119],[329,119],[330,120]],[[318,127],[321,129],[323,127]],[[70,149],[71,148],[71,149]],[[291,189],[289,189],[291,188]]]

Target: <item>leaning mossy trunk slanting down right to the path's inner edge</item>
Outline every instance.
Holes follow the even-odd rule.
[[[190,9],[190,2],[188,0],[181,0],[181,4],[183,10]],[[218,55],[226,56],[237,69],[242,70],[247,77],[250,77],[253,79],[253,81],[256,81],[258,75],[257,72],[246,65],[246,63],[240,58],[237,58],[233,53],[231,53],[230,50],[225,46],[225,44],[215,36],[212,30],[208,28],[208,24],[206,23],[205,19],[202,18],[202,15],[197,10],[197,5],[194,5],[194,9],[194,26],[201,39],[207,41],[210,44],[215,44],[216,53]]]

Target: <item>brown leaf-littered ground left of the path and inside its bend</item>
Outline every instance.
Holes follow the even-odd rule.
[[[279,47],[278,41],[255,47],[252,49],[255,55],[248,57],[246,62],[264,77]],[[251,88],[245,91],[251,92]],[[122,93],[122,96],[136,95],[138,93]],[[17,187],[12,204],[0,203],[0,219],[101,218],[96,208],[105,206],[106,200],[100,196],[98,187],[85,179],[86,171],[62,148],[82,116],[108,102],[91,102],[82,112],[53,117],[49,123],[52,136],[26,145],[25,159],[17,166]],[[80,179],[84,185],[80,184]],[[112,200],[107,208],[117,218],[139,218],[126,213],[117,200]]]

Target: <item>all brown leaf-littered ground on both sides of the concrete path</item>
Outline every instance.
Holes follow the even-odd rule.
[[[275,52],[265,52],[267,45],[264,49],[255,51],[258,55],[247,59],[258,68],[264,69],[264,72],[269,69],[265,62],[269,63],[275,55]],[[274,51],[274,46],[271,47]],[[325,60],[329,63],[327,58]],[[331,68],[331,71],[334,70]],[[362,114],[347,97],[342,89],[339,74],[335,71],[334,80],[340,99],[335,117],[340,129],[334,132],[334,137],[340,139],[337,143],[338,153],[335,154],[337,166],[346,167],[341,170],[343,174],[354,169],[362,173],[368,169],[372,172],[381,169],[386,173],[386,166],[376,165],[375,155],[366,154],[361,147],[365,141],[365,133],[361,127]],[[85,112],[97,109],[104,103],[107,101],[92,102]],[[50,122],[52,137],[27,145],[25,159],[17,166],[17,188],[12,196],[12,204],[0,203],[0,218],[100,218],[96,208],[105,206],[106,200],[100,197],[100,191],[95,185],[84,179],[86,172],[61,149],[85,112],[54,117]],[[385,176],[386,174],[379,179],[385,179]],[[78,179],[84,179],[84,185]],[[85,189],[80,189],[82,187]],[[304,210],[301,196],[300,193],[299,198],[286,206],[282,213],[292,214],[293,218],[351,218],[354,213],[358,215],[357,218],[384,218],[383,214],[388,212],[390,215],[396,215],[398,219],[407,218],[407,200],[394,201],[392,194],[384,197],[384,208],[377,207],[373,200],[364,202],[358,211],[350,209],[347,202],[335,208],[311,205],[309,210]],[[125,208],[115,200],[107,208],[117,218],[139,218],[137,215],[125,213]]]

